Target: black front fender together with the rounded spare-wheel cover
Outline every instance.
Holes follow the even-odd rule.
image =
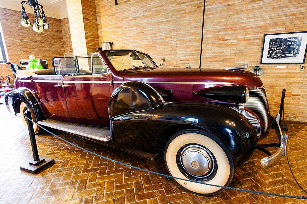
[[[238,163],[252,156],[258,137],[251,123],[237,111],[217,104],[163,103],[160,99],[143,82],[131,81],[119,86],[109,103],[110,116],[113,116],[112,142],[122,149],[134,148],[144,155],[157,156],[173,134],[196,129],[218,138]],[[148,104],[144,106],[144,103]]]

